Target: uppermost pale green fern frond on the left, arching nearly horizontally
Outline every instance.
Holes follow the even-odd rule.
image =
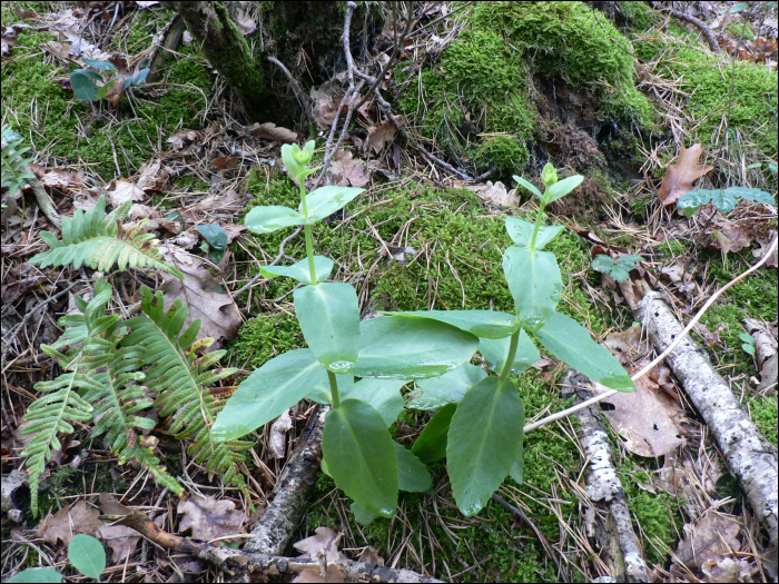
[[[130,206],[127,201],[106,215],[106,197],[102,196],[86,214],[76,209],[72,219],[62,218],[62,241],[49,231],[41,231],[41,238],[51,249],[38,254],[30,263],[40,264],[41,268],[72,264],[78,269],[87,265],[100,271],[109,271],[117,264],[120,270],[151,268],[184,278],[184,274],[165,261],[151,245],[154,234],[140,232],[142,225],[131,230],[120,227],[119,219],[127,217]]]

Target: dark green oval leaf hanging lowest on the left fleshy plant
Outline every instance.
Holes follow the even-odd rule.
[[[322,452],[338,488],[361,507],[392,516],[397,506],[397,455],[378,412],[344,399],[327,413]]]

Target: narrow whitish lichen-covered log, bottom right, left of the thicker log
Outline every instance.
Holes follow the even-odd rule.
[[[582,402],[593,396],[590,379],[573,369],[565,375],[562,387],[565,398],[575,396],[578,402]],[[579,410],[576,416],[580,422],[576,434],[588,461],[586,492],[594,504],[585,513],[588,536],[607,548],[604,560],[617,582],[649,582],[628,499],[614,471],[611,444],[600,408],[592,405]],[[600,515],[608,518],[602,521]]]

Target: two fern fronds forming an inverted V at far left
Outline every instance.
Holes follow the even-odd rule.
[[[72,434],[70,422],[97,419],[92,436],[106,435],[110,448],[120,462],[136,457],[171,491],[180,493],[181,486],[165,475],[164,468],[149,448],[128,443],[130,432],[151,429],[152,420],[137,416],[151,406],[145,388],[136,385],[144,379],[139,368],[144,365],[142,347],[119,347],[126,334],[119,317],[106,315],[106,306],[112,295],[111,286],[100,279],[95,285],[95,297],[87,303],[77,298],[81,315],[69,315],[60,323],[69,323],[62,338],[55,345],[41,345],[56,357],[67,373],[53,382],[42,382],[36,389],[47,395],[33,402],[24,419],[31,422],[22,434],[34,434],[27,449],[27,468],[30,473],[32,513],[38,514],[40,474],[51,457],[51,449],[59,449],[57,433]],[[65,350],[61,353],[59,349]]]

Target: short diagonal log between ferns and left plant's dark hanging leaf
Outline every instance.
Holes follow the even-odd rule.
[[[244,544],[245,552],[278,555],[289,545],[309,503],[322,464],[322,428],[328,407],[313,412],[289,463],[276,482],[270,505]]]

